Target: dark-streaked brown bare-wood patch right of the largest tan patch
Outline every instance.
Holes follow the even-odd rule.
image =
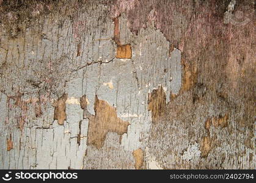
[[[162,86],[148,94],[148,110],[152,112],[152,122],[156,123],[166,113],[166,93]]]

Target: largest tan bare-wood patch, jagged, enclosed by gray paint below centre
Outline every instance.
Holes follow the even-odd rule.
[[[109,106],[108,102],[96,96],[94,110],[95,115],[89,118],[87,145],[100,149],[108,132],[116,132],[119,135],[127,132],[129,123],[117,117],[116,109]]]

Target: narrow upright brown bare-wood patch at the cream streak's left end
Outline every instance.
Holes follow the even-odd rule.
[[[54,109],[54,120],[58,120],[59,124],[64,124],[64,120],[67,119],[66,115],[66,101],[68,95],[64,93],[59,99],[54,101],[53,107]]]

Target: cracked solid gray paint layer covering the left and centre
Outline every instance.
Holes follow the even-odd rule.
[[[98,16],[100,11],[95,9],[90,13]],[[169,57],[169,42],[159,30],[150,27],[133,35],[126,28],[125,16],[121,16],[120,41],[123,44],[131,43],[133,57],[115,59],[115,43],[111,39],[114,24],[108,18],[97,23],[93,20],[97,16],[89,18],[86,13],[82,13],[74,23],[64,21],[61,29],[57,21],[42,19],[38,27],[27,28],[24,37],[9,41],[7,46],[12,50],[11,54],[5,55],[1,50],[1,57],[7,60],[2,72],[4,76],[10,77],[1,79],[7,95],[15,95],[11,86],[16,91],[26,93],[21,98],[23,100],[31,96],[38,98],[38,94],[55,99],[54,96],[61,96],[63,92],[68,94],[67,121],[63,126],[53,121],[53,100],[47,99],[42,105],[43,115],[38,118],[34,117],[33,105],[27,104],[26,123],[21,131],[15,127],[18,109],[13,109],[6,117],[6,95],[1,93],[1,131],[4,132],[1,136],[2,168],[82,168],[86,151],[88,159],[97,158],[97,153],[92,148],[87,149],[86,145],[88,121],[82,119],[83,110],[79,105],[79,98],[84,94],[89,101],[87,109],[91,114],[94,114],[93,103],[97,95],[110,106],[117,107],[118,117],[130,123],[120,144],[125,153],[130,153],[132,157],[132,151],[145,148],[151,124],[151,115],[147,109],[148,93],[158,85],[163,85],[167,95],[170,91],[178,92],[181,86],[180,51],[175,49]],[[74,32],[71,34],[74,31],[72,27],[74,29],[74,26],[84,24],[86,29],[83,35],[80,35],[81,32],[79,35]],[[2,32],[2,40],[5,37]],[[76,57],[78,40],[81,41],[81,56]],[[18,54],[18,51],[22,54]],[[92,64],[86,66],[87,63]],[[11,75],[7,74],[9,70],[12,70]],[[5,118],[9,123],[5,123]],[[84,135],[81,134],[79,146],[77,137],[80,121]],[[14,144],[13,149],[6,151],[9,134],[12,134]],[[105,153],[104,149],[100,151]],[[102,168],[110,168],[105,166]]]

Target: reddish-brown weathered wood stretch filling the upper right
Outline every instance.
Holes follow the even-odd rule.
[[[145,28],[148,22],[154,22],[156,29],[160,29],[170,41],[170,50],[181,50],[184,67],[181,91],[190,90],[201,78],[213,85],[212,82],[216,79],[223,81],[222,76],[226,76],[227,80],[224,82],[236,90],[241,85],[240,76],[249,76],[247,73],[252,73],[255,69],[249,64],[249,60],[255,63],[253,55],[245,54],[255,52],[254,46],[251,46],[251,40],[254,40],[255,17],[251,16],[252,20],[244,26],[224,24],[223,16],[228,4],[228,1],[152,0],[149,3],[119,0],[114,1],[111,12],[114,18],[125,13],[130,30],[135,34]],[[239,1],[236,2],[234,13],[245,5],[251,11],[254,10],[251,2]],[[220,73],[223,70],[224,73]],[[197,77],[199,73],[200,77]],[[246,91],[245,88],[241,89]],[[229,95],[243,93],[226,90]]]

